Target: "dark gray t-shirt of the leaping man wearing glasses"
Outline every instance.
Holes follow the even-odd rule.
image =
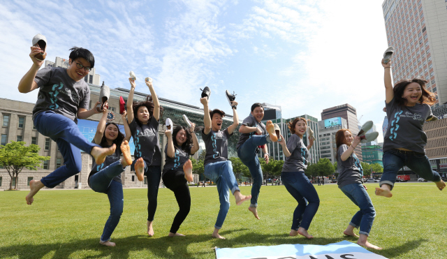
[[[34,81],[40,89],[33,109],[33,119],[39,112],[53,111],[78,124],[78,109],[89,109],[89,86],[84,80],[73,80],[68,76],[66,68],[42,68]]]

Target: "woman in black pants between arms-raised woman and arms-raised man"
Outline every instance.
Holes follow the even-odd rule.
[[[189,156],[198,151],[198,139],[194,128],[196,124],[191,123],[191,128],[176,126],[173,131],[166,130],[168,144],[165,147],[166,160],[163,168],[163,183],[174,192],[175,199],[179,205],[179,212],[175,215],[173,225],[170,227],[170,237],[182,237],[177,233],[180,225],[189,214],[191,209],[191,195],[188,182],[193,182],[193,165]]]

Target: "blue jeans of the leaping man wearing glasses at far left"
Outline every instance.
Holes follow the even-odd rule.
[[[39,133],[57,143],[59,151],[64,156],[64,165],[41,179],[42,184],[48,188],[54,188],[57,184],[81,171],[80,150],[90,154],[93,147],[99,147],[87,141],[84,135],[80,133],[75,121],[64,115],[50,111],[41,112],[34,117],[34,125]]]

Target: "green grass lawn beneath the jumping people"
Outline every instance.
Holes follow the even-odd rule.
[[[393,198],[376,197],[376,220],[369,242],[387,258],[447,258],[446,191],[432,183],[398,183]],[[358,210],[337,185],[315,186],[321,204],[309,228],[314,239],[289,237],[296,202],[284,186],[263,186],[256,220],[249,202],[231,207],[221,235],[211,237],[219,199],[215,187],[191,188],[191,212],[179,229],[186,237],[167,237],[177,213],[173,192],[159,190],[154,237],[146,234],[145,189],[124,189],[124,213],[112,235],[115,247],[98,244],[109,214],[107,195],[91,190],[41,191],[33,205],[27,191],[0,192],[0,258],[215,258],[214,246],[271,246],[277,244],[330,244],[355,238],[343,230]],[[250,186],[242,193],[249,194]]]

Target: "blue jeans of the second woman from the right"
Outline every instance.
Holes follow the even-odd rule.
[[[344,195],[348,196],[349,199],[357,205],[360,210],[352,217],[349,225],[354,228],[360,226],[359,234],[369,236],[369,232],[372,228],[372,223],[376,217],[376,210],[372,205],[372,201],[369,198],[365,187],[362,184],[348,184],[340,187]]]

